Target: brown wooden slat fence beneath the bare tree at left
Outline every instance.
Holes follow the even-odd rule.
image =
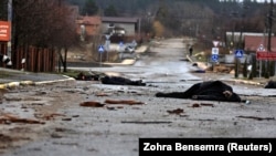
[[[7,54],[7,44],[1,43],[1,53]],[[34,46],[18,48],[11,55],[11,69],[29,72],[54,72],[56,65],[55,51],[52,49],[41,49]],[[2,67],[7,67],[3,63]]]

